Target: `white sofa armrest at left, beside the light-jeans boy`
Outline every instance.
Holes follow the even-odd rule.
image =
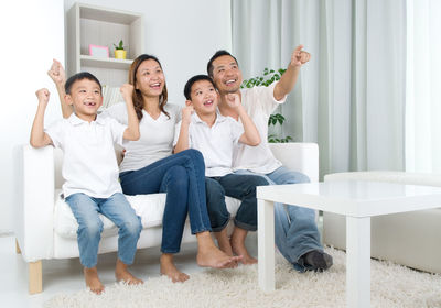
[[[17,240],[26,262],[53,255],[54,148],[13,148]]]

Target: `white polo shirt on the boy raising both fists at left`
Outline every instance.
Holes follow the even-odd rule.
[[[108,198],[121,193],[114,143],[122,145],[126,127],[111,118],[97,117],[88,123],[73,113],[68,119],[52,123],[45,132],[54,146],[61,147],[64,196],[84,193],[90,197]]]

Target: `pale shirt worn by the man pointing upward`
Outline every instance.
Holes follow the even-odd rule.
[[[235,147],[233,168],[248,169],[255,173],[269,174],[280,167],[282,163],[276,160],[268,145],[268,119],[279,103],[283,103],[287,97],[280,101],[275,99],[275,86],[254,87],[241,89],[241,105],[252,119],[259,131],[261,142],[257,146],[249,146],[243,143]]]

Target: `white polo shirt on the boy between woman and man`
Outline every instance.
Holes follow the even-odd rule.
[[[176,124],[173,145],[176,145],[181,122]],[[193,113],[189,127],[189,146],[201,151],[205,161],[205,176],[224,176],[233,172],[233,148],[238,143],[244,128],[230,117],[216,113],[212,128]]]

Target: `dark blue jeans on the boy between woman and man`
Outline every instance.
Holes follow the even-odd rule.
[[[256,186],[268,185],[268,180],[256,175],[227,174],[220,177],[206,177],[205,185],[213,231],[222,231],[228,223],[229,212],[225,196],[241,201],[235,217],[235,224],[244,230],[257,230]]]

